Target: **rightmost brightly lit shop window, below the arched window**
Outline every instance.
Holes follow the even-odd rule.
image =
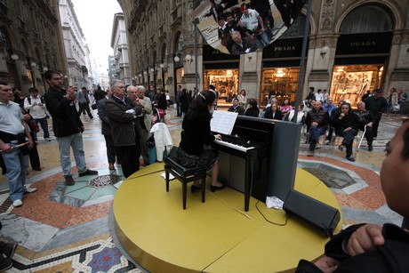
[[[383,66],[335,66],[330,97],[335,103],[346,100],[356,107],[365,92],[380,88]]]

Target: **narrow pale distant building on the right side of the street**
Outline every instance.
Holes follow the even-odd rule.
[[[114,56],[109,60],[110,73],[113,75],[112,77],[123,81],[124,84],[131,84],[128,38],[126,36],[124,13],[116,13],[114,15],[111,47],[114,50]]]

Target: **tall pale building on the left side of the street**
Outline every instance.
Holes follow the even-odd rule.
[[[64,74],[69,85],[93,88],[92,62],[83,30],[76,18],[71,0],[60,0],[60,24],[67,56],[68,71]]]

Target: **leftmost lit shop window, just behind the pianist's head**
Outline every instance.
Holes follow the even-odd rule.
[[[205,90],[213,84],[219,92],[218,104],[231,102],[238,95],[238,69],[205,70]]]

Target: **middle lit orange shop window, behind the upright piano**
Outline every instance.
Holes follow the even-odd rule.
[[[278,104],[285,99],[293,104],[298,87],[300,68],[267,68],[264,69],[261,84],[260,105],[266,106],[271,95],[275,95]]]

